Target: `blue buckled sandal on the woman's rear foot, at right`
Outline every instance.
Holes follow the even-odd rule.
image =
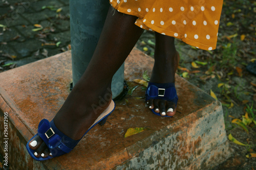
[[[175,84],[149,82],[146,89],[146,101],[150,99],[162,99],[166,101],[171,101],[171,102],[174,102],[175,106],[177,107],[178,95],[175,88]],[[160,113],[155,112],[154,109],[151,109],[151,111],[158,116],[162,116]],[[162,117],[173,117],[173,116],[166,115]]]

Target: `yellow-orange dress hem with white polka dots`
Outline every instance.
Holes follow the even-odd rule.
[[[119,12],[137,16],[140,28],[214,50],[223,0],[110,0]]]

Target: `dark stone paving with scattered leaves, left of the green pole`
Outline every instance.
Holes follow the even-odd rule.
[[[69,0],[0,0],[0,71],[65,52],[69,44]]]

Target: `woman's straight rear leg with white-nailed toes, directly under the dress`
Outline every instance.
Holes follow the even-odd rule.
[[[174,83],[179,59],[180,56],[175,49],[174,38],[156,33],[155,63],[150,82]],[[146,101],[146,104],[162,116],[174,116],[176,113],[174,102],[150,99]]]

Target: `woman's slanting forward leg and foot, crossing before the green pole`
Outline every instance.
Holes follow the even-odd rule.
[[[88,68],[54,117],[56,127],[70,138],[80,139],[109,106],[112,77],[143,32],[134,25],[136,19],[136,16],[119,13],[110,7]],[[34,140],[37,144],[30,148],[35,150],[35,155],[39,157],[44,153],[47,157],[49,150],[45,142],[40,137]]]

